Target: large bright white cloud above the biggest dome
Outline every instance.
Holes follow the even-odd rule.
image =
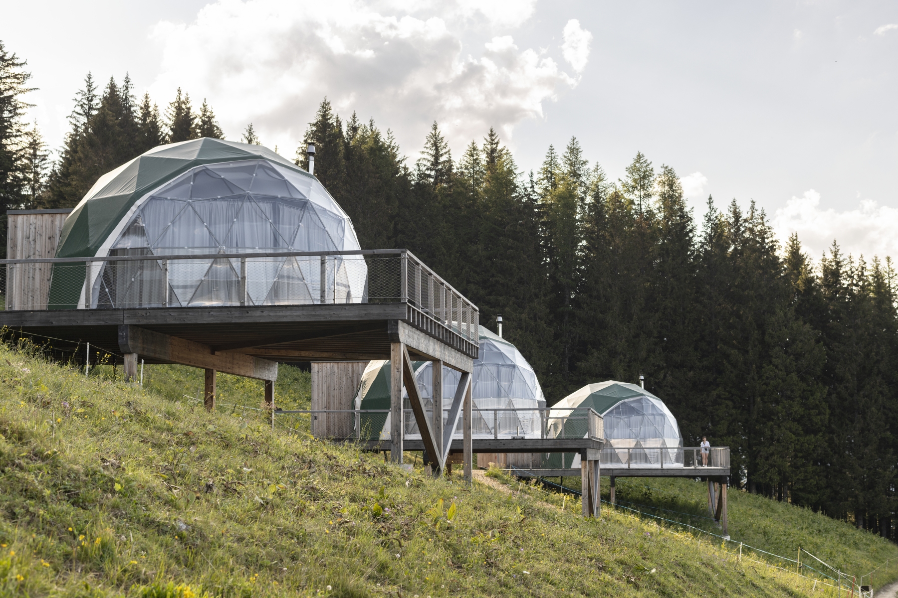
[[[409,153],[434,120],[455,147],[489,126],[507,139],[577,85],[552,57],[558,48],[521,49],[508,35],[534,4],[219,0],[190,24],[158,23],[152,37],[163,44],[163,65],[150,91],[169,98],[180,86],[205,97],[228,138],[252,122],[262,143],[285,155],[324,96],[342,117],[357,110],[392,127]],[[465,47],[471,31],[481,41]],[[579,72],[592,36],[571,21],[564,37],[560,54]]]

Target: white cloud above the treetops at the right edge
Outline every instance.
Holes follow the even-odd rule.
[[[833,239],[845,254],[898,256],[898,209],[861,200],[858,208],[836,212],[820,208],[820,194],[808,189],[801,197],[793,196],[773,216],[772,225],[781,241],[798,233],[806,251],[815,259],[823,255]]]

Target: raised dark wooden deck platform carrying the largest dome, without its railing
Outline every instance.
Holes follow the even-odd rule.
[[[412,359],[442,357],[446,365],[462,370],[471,367],[478,351],[476,343],[409,303],[17,310],[0,311],[0,325],[36,334],[38,341],[53,339],[54,348],[73,352],[87,342],[98,350],[123,351],[123,326],[197,342],[216,355],[274,361],[389,360],[391,342],[398,336],[416,337],[408,342]],[[144,359],[172,362],[156,355]]]

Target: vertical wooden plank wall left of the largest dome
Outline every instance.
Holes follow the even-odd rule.
[[[6,212],[6,259],[56,256],[71,210]],[[6,309],[46,309],[53,264],[6,264]]]

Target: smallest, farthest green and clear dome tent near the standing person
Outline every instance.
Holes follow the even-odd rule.
[[[667,405],[661,399],[638,385],[614,380],[587,385],[552,405],[552,409],[556,410],[565,407],[588,407],[603,416],[605,437],[603,465],[626,463],[627,451],[608,450],[612,448],[682,446],[682,435],[674,414],[667,409]],[[566,435],[572,433],[574,424],[573,421],[550,420],[550,435],[559,436],[562,426]],[[580,433],[582,434],[582,431]],[[665,467],[682,467],[681,451],[649,450],[631,453],[629,461],[631,467],[657,467],[659,458],[664,458]],[[566,463],[568,467],[578,465],[577,459],[571,464]]]

